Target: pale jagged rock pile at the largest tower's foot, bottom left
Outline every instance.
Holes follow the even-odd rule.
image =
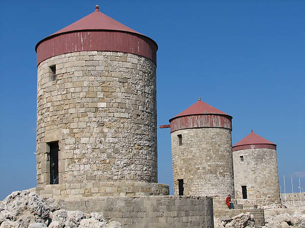
[[[53,199],[43,200],[34,192],[12,192],[0,205],[0,228],[122,228],[100,214],[61,210]]]

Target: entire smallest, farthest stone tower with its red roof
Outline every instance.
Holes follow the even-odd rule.
[[[235,198],[280,203],[276,145],[253,131],[233,146]]]

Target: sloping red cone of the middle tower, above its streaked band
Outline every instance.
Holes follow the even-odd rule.
[[[173,118],[179,116],[189,116],[189,115],[200,115],[200,114],[219,114],[219,115],[226,115],[232,118],[232,116],[224,113],[217,108],[201,101],[200,97],[196,103],[185,109],[183,112],[180,112],[178,115],[174,116]],[[173,119],[172,118],[172,119]]]

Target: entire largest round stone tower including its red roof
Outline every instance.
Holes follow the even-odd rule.
[[[36,45],[37,186],[157,182],[156,50],[98,7]]]

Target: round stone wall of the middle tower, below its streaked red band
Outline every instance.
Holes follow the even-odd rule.
[[[182,146],[178,136],[182,135]],[[171,133],[174,194],[183,179],[184,195],[234,197],[231,130],[192,128]]]

